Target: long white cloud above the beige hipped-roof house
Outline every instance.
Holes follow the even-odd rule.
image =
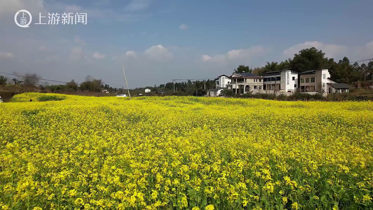
[[[249,62],[254,57],[262,56],[267,50],[263,46],[254,46],[248,49],[229,50],[224,55],[203,55],[202,61],[206,62]]]

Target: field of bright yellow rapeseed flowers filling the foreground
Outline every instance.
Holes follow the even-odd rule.
[[[0,117],[2,209],[373,208],[373,102],[23,93]]]

